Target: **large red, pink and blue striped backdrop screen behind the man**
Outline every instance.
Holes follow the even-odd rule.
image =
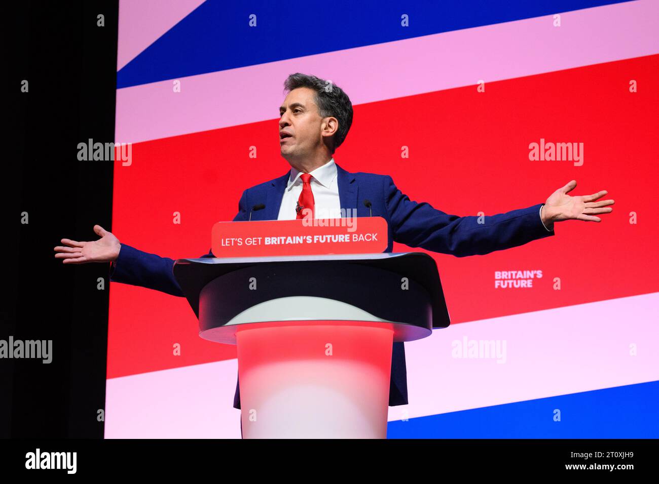
[[[290,169],[285,78],[331,80],[354,107],[336,163],[391,175],[411,200],[494,215],[573,179],[574,194],[616,200],[602,223],[510,250],[428,252],[451,325],[405,344],[409,404],[389,407],[388,437],[659,437],[646,425],[659,417],[656,18],[654,0],[121,0],[115,142],[131,151],[115,161],[112,231],[161,257],[207,254],[243,190]],[[484,342],[496,351],[474,350]],[[185,298],[111,284],[105,437],[240,437],[236,379],[235,346],[202,340]]]

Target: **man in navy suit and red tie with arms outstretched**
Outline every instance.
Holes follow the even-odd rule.
[[[554,223],[564,220],[600,222],[596,215],[610,213],[613,200],[596,202],[607,192],[569,196],[575,180],[554,192],[545,203],[486,217],[447,215],[432,205],[413,202],[388,175],[350,173],[333,159],[350,129],[353,107],[349,97],[331,82],[291,74],[288,92],[279,108],[281,156],[291,169],[279,178],[244,190],[234,221],[287,220],[302,217],[384,217],[388,225],[386,252],[393,242],[457,257],[488,254],[554,235]],[[370,202],[366,206],[364,202]],[[262,207],[262,205],[265,205]],[[347,216],[353,216],[347,215]],[[148,254],[127,244],[99,225],[101,236],[92,242],[62,239],[55,257],[63,263],[111,262],[111,281],[143,286],[183,296],[173,277],[173,259]],[[202,257],[214,257],[209,252]],[[407,404],[405,346],[393,344],[389,406]],[[233,402],[240,406],[236,385]]]

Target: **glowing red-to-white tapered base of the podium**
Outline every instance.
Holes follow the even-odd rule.
[[[386,439],[393,328],[279,321],[236,333],[244,439]]]

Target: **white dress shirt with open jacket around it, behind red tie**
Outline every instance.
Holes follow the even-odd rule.
[[[295,220],[297,212],[295,207],[302,193],[302,172],[291,167],[288,185],[284,190],[279,207],[277,220]],[[337,180],[336,163],[331,158],[322,167],[310,171],[312,176],[311,192],[314,194],[314,218],[315,219],[340,219],[341,201],[339,199],[339,182]]]

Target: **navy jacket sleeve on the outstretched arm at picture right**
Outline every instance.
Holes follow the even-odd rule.
[[[456,257],[489,254],[554,235],[544,227],[538,203],[498,215],[459,217],[435,209],[430,203],[412,202],[384,177],[384,194],[393,240],[410,247]],[[479,223],[480,221],[480,223]]]

